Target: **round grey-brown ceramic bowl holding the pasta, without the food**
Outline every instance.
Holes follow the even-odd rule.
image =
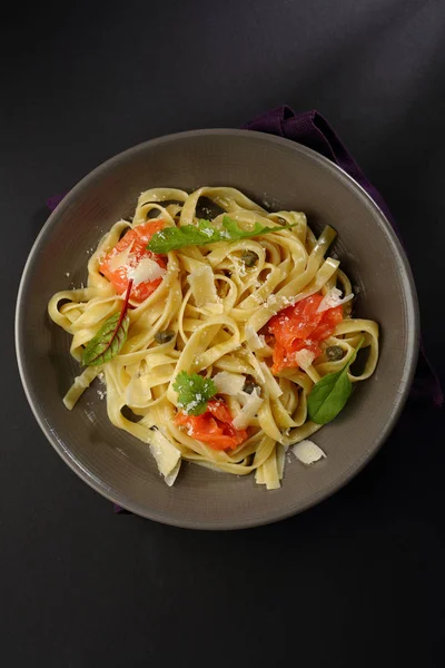
[[[286,465],[281,489],[253,477],[185,464],[174,488],[147,446],[113,428],[95,389],[69,412],[62,396],[78,374],[69,336],[47,316],[57,291],[86,279],[88,250],[148,187],[229,185],[273,209],[306,212],[339,235],[336,252],[359,286],[356,313],[378,321],[380,360],[343,413],[316,438],[327,459]],[[69,277],[67,277],[69,272]],[[60,456],[98,492],[140,515],[196,529],[273,522],[332,494],[387,438],[409,390],[418,345],[415,288],[404,252],[366,193],[344,171],[291,141],[244,130],[199,130],[161,137],[108,160],[63,199],[38,236],[17,306],[17,354],[31,409]]]

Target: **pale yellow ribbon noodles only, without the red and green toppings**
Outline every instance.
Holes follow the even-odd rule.
[[[258,483],[275,489],[283,478],[286,449],[320,428],[307,415],[314,384],[343,369],[362,338],[368,354],[359,375],[349,370],[350,381],[368,379],[377,364],[378,326],[352,317],[352,301],[345,299],[353,297],[352,284],[339,269],[338,259],[327,255],[335,238],[333,228],[326,227],[316,238],[305,214],[268,213],[229,187],[202,187],[191,194],[174,188],[147,190],[139,197],[132,220],[118,220],[99,242],[88,262],[87,287],[57,293],[49,303],[49,315],[72,335],[71,355],[81,361],[85,346],[122,305],[122,294],[99,269],[103,257],[125,232],[147,219],[162,220],[166,226],[196,225],[201,197],[220,212],[211,219],[216,227],[225,214],[246,229],[255,223],[294,227],[169,252],[155,292],[141,303],[130,298],[128,337],[119,354],[102,365],[87,366],[63,401],[71,410],[91,382],[103,374],[110,421],[149,445],[168,484],[172,484],[181,460],[187,460],[236,475],[255,472]],[[255,254],[254,266],[243,263],[246,252]],[[309,357],[304,367],[295,364],[273,374],[268,321],[289,304],[315,294],[328,295],[335,287],[342,289],[344,320],[320,342],[322,354]],[[165,331],[172,331],[175,336],[158,343],[157,333]],[[339,346],[343,357],[329,358],[329,346]],[[212,379],[218,376],[224,385],[218,396],[235,421],[246,415],[246,404],[253,401],[243,390],[246,380],[258,387],[256,410],[248,416],[243,443],[231,450],[215,450],[175,423],[178,395],[174,383],[181,371]]]

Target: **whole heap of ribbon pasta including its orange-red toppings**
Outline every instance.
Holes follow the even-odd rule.
[[[215,209],[206,222],[197,214],[202,197]],[[170,243],[169,228],[192,238],[188,226],[219,240],[147,250],[156,239]],[[255,226],[263,233],[246,236]],[[110,421],[147,443],[168,484],[187,460],[255,472],[279,488],[286,449],[320,428],[308,418],[314,385],[340,371],[338,385],[363,381],[377,364],[378,326],[352,316],[350,282],[328,255],[335,235],[326,227],[317,238],[305,214],[268,213],[229,187],[142,193],[131,222],[118,220],[89,258],[87,287],[49,303],[79,362],[110,316],[125,307],[128,317],[123,345],[86,366],[66,406],[102,373]],[[359,346],[368,354],[354,375],[348,361]],[[209,395],[181,402],[178,379]]]

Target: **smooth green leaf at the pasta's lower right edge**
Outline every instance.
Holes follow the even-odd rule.
[[[347,374],[363,342],[362,337],[350,360],[340,371],[328,373],[316,383],[307,400],[309,420],[316,424],[327,424],[338,415],[353,392],[353,383]]]

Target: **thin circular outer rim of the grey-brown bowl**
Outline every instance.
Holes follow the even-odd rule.
[[[378,439],[373,443],[373,446],[363,454],[362,458],[354,460],[354,462],[345,469],[342,474],[339,474],[329,485],[323,488],[323,490],[318,490],[310,494],[304,503],[300,503],[298,508],[289,507],[287,509],[275,509],[270,512],[270,514],[264,518],[253,518],[244,519],[241,521],[234,518],[233,520],[220,520],[220,521],[197,521],[189,520],[187,518],[177,519],[169,518],[164,512],[150,511],[141,505],[134,503],[131,499],[126,498],[123,494],[120,494],[118,491],[110,489],[103,481],[98,479],[96,475],[92,475],[78,460],[70,453],[69,446],[62,441],[62,439],[58,438],[56,433],[49,428],[49,425],[44,421],[44,416],[42,411],[38,407],[37,396],[31,389],[31,382],[27,377],[26,373],[26,363],[24,363],[24,345],[23,345],[23,335],[24,330],[22,325],[22,302],[24,298],[24,293],[27,289],[27,285],[31,277],[31,267],[34,259],[38,256],[41,244],[44,242],[44,237],[49,234],[50,229],[53,225],[57,224],[58,218],[63,210],[69,207],[70,202],[77,196],[78,193],[81,193],[85,186],[89,184],[90,180],[99,177],[102,171],[107,171],[111,166],[118,165],[120,161],[126,160],[134,154],[139,151],[145,151],[151,147],[157,145],[175,141],[181,138],[194,138],[201,136],[237,136],[237,137],[257,137],[261,141],[286,146],[291,148],[295,151],[299,151],[305,154],[310,159],[318,163],[323,168],[328,169],[335,177],[339,177],[340,180],[353,190],[364,200],[364,204],[367,204],[375,214],[376,223],[379,225],[380,229],[386,233],[387,240],[393,245],[393,252],[397,256],[399,267],[403,271],[402,274],[402,286],[405,296],[406,311],[407,311],[407,355],[405,358],[405,365],[403,370],[403,376],[400,380],[400,385],[397,389],[396,396],[394,397],[393,407],[390,412],[389,420],[383,426]],[[32,244],[32,247],[29,252],[28,258],[26,261],[22,276],[20,279],[20,285],[17,294],[16,302],[16,317],[14,317],[14,342],[16,342],[16,355],[18,362],[18,369],[20,379],[22,382],[23,391],[28,403],[31,407],[31,411],[42,430],[43,434],[47,436],[48,441],[51,443],[56,452],[61,456],[61,459],[69,465],[69,468],[86,482],[89,487],[91,487],[95,491],[99,492],[102,497],[108,499],[109,501],[118,504],[126,510],[129,510],[131,513],[137,514],[142,518],[147,518],[154,521],[161,522],[164,524],[169,524],[174,527],[181,527],[187,529],[200,529],[200,530],[231,530],[231,529],[246,529],[253,527],[259,527],[264,524],[269,524],[276,521],[280,521],[293,517],[295,514],[299,514],[300,512],[316,505],[317,503],[324,501],[329,498],[336,491],[342,489],[349,480],[352,480],[357,473],[362,471],[362,469],[373,459],[373,456],[380,450],[382,445],[385,443],[390,432],[393,431],[402,410],[406,403],[408,392],[414,379],[417,357],[418,357],[418,348],[419,348],[419,307],[418,307],[418,297],[414,283],[413,273],[406,257],[406,253],[404,247],[397,237],[393,226],[388,222],[387,217],[379,208],[379,206],[375,203],[375,200],[368,195],[368,193],[360,186],[352,176],[349,176],[342,167],[329,160],[328,158],[322,156],[315,150],[306,147],[303,144],[297,141],[286,139],[283,137],[277,137],[275,135],[269,135],[267,132],[259,132],[255,130],[244,130],[244,129],[231,129],[231,128],[211,128],[211,129],[197,129],[197,130],[187,130],[181,132],[174,132],[169,135],[164,135],[160,137],[156,137],[154,139],[149,139],[147,141],[142,141],[137,144],[110,158],[101,163],[95,169],[89,171],[83,178],[81,178],[75,186],[71,188],[57,208],[49,215],[47,222],[38,234],[36,240]]]

